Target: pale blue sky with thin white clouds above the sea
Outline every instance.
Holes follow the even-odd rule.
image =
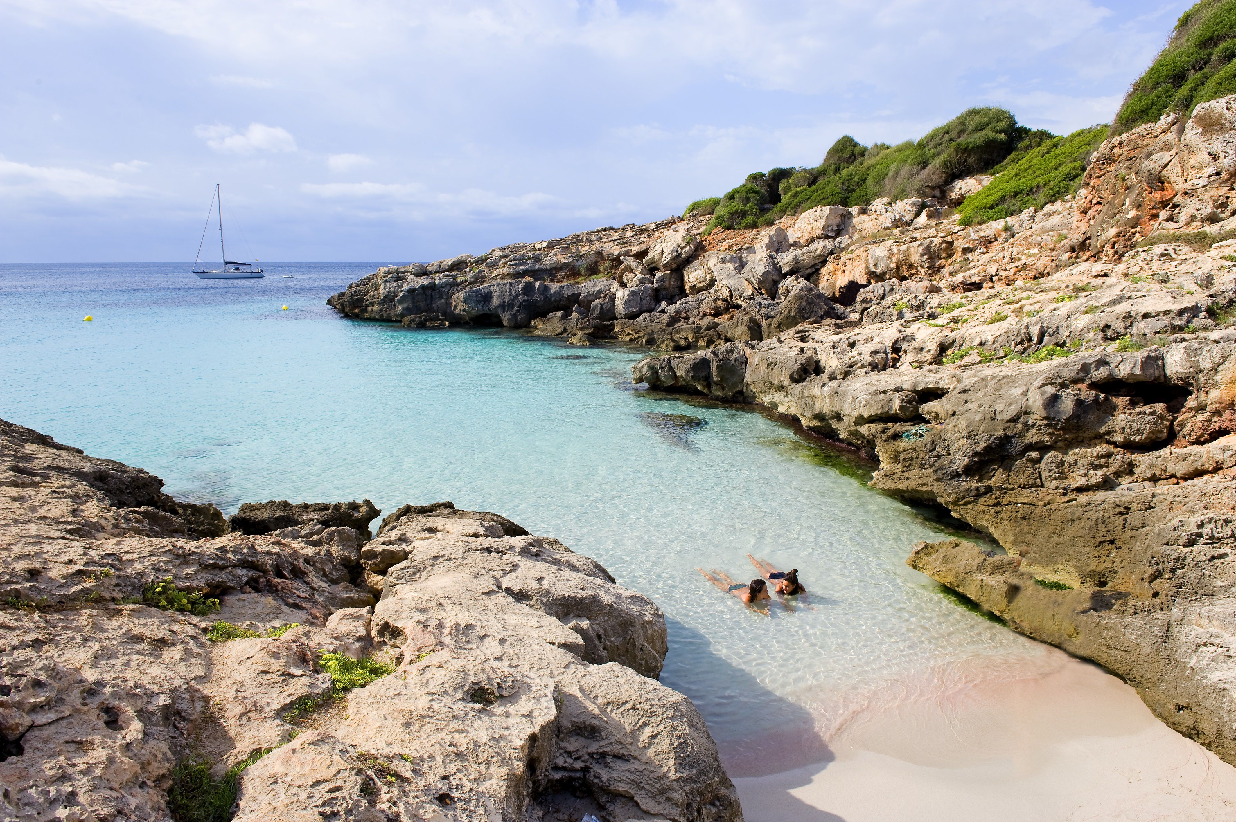
[[[0,262],[192,261],[215,183],[229,257],[408,262],[661,219],[975,105],[1067,133],[1190,5],[0,0]]]

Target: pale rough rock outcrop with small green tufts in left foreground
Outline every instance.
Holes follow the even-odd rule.
[[[30,429],[0,454],[6,820],[742,820],[661,612],[554,539],[438,503],[366,541],[367,501],[229,533]]]

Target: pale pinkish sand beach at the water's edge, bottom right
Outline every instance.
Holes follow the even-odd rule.
[[[969,674],[823,718],[826,761],[732,769],[747,822],[1236,820],[1236,768],[1095,665],[1053,649],[1025,675]]]

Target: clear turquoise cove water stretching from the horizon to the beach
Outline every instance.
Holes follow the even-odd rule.
[[[661,679],[734,775],[827,758],[831,733],[890,701],[1043,664],[906,567],[944,532],[836,454],[756,413],[635,389],[635,350],[325,305],[373,267],[222,282],[187,265],[0,266],[0,417],[226,513],[450,499],[557,536],[665,611]],[[748,551],[800,569],[808,607],[749,612],[693,571],[750,578]]]

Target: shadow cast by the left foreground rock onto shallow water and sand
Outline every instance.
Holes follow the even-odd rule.
[[[739,728],[733,723],[719,724],[705,714],[726,773],[730,778],[760,778],[805,769],[801,780],[789,774],[779,780],[779,787],[785,781],[785,791],[779,790],[775,799],[761,792],[761,806],[768,807],[744,807],[747,818],[844,822],[836,813],[812,807],[789,792],[808,784],[812,771],[823,770],[834,759],[832,749],[816,733],[811,712],[769,691],[749,672],[729,663],[698,630],[669,617],[665,623],[670,653],[661,681],[722,716],[743,717]],[[684,653],[686,650],[691,653]],[[807,765],[817,768],[806,769]]]

